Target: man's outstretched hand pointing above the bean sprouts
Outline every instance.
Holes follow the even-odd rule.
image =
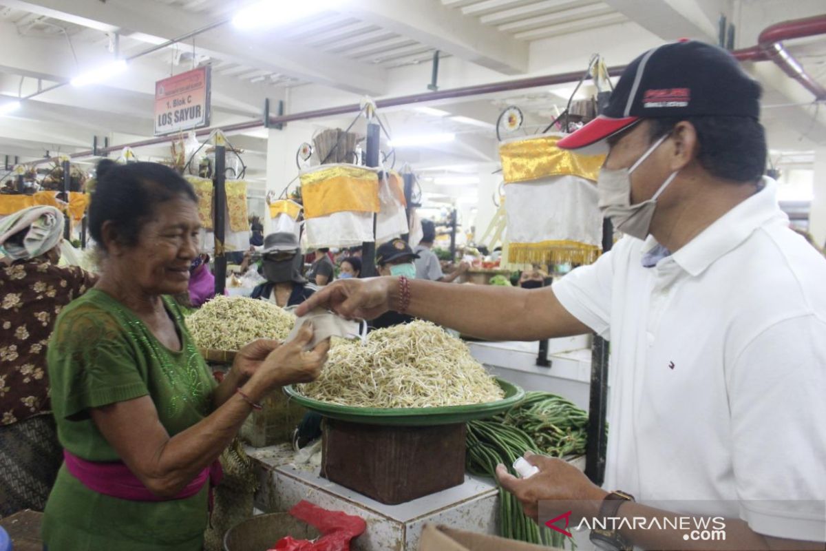
[[[349,320],[374,320],[392,310],[398,287],[398,278],[341,279],[302,302],[296,316],[322,306]]]

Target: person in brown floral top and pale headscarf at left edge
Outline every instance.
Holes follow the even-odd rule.
[[[43,511],[62,461],[50,415],[46,343],[93,274],[57,265],[64,216],[31,207],[0,221],[0,517]]]

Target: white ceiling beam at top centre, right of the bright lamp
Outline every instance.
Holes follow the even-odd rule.
[[[348,0],[339,10],[502,74],[528,71],[527,44],[439,0]]]

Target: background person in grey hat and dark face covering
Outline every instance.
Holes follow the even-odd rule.
[[[311,297],[313,290],[306,287],[301,277],[301,254],[298,238],[289,231],[267,235],[263,240],[261,270],[266,283],[253,289],[250,297],[274,302],[282,308],[297,306]]]

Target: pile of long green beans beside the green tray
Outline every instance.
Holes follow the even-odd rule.
[[[505,414],[468,423],[468,472],[496,477],[503,463],[511,474],[516,458],[526,451],[552,457],[585,454],[588,414],[566,398],[549,392],[527,392],[525,400]],[[539,526],[522,511],[520,502],[499,488],[500,534],[530,544],[564,547],[565,536]],[[572,549],[575,547],[571,539]]]

